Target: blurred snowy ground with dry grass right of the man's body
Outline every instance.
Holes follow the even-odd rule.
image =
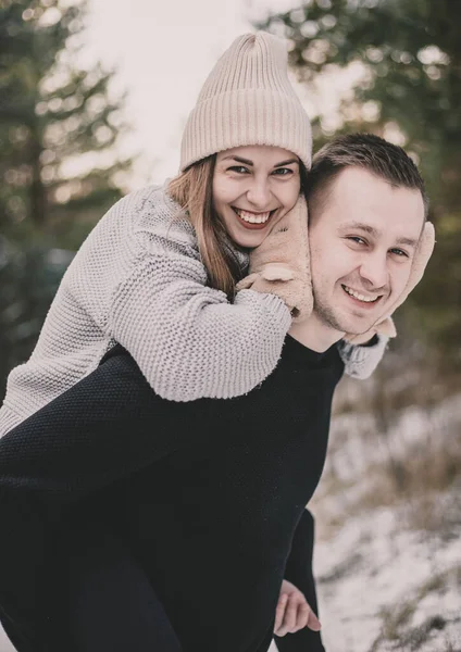
[[[461,480],[425,493],[429,529],[415,525],[425,518],[415,517],[421,503],[414,496],[394,506],[366,507],[366,493],[376,490],[374,475],[388,463],[389,453],[404,463],[423,452],[431,464],[440,448],[448,454],[456,450],[460,396],[432,409],[402,410],[388,425],[379,437],[371,415],[333,419],[327,463],[312,506],[325,649],[461,652]]]

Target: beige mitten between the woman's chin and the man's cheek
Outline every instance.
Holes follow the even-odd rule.
[[[294,322],[311,314],[308,206],[302,196],[250,253],[250,274],[237,285],[237,290],[244,289],[277,294],[291,311]]]

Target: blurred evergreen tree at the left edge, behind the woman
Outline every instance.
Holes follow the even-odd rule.
[[[122,196],[132,164],[113,154],[125,129],[113,72],[76,64],[84,18],[84,2],[0,0],[0,402],[70,250]]]

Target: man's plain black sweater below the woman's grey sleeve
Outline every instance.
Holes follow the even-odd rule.
[[[102,490],[100,500],[116,505],[105,510],[108,523],[126,537],[185,650],[198,640],[203,651],[263,650],[292,537],[322,473],[341,373],[336,347],[319,354],[287,337],[276,369],[247,396],[171,403],[132,359],[113,356],[0,441],[2,511],[13,518],[26,504],[40,531]],[[2,542],[12,563],[0,568],[0,597],[27,619],[33,592],[25,604],[8,590],[14,560],[26,553],[20,532]],[[36,566],[29,555],[25,568]],[[15,586],[29,577],[23,567]]]

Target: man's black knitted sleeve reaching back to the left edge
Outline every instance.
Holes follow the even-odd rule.
[[[205,426],[211,401],[161,399],[117,351],[0,438],[0,501],[26,497],[55,515],[205,437],[189,426],[200,404]]]

